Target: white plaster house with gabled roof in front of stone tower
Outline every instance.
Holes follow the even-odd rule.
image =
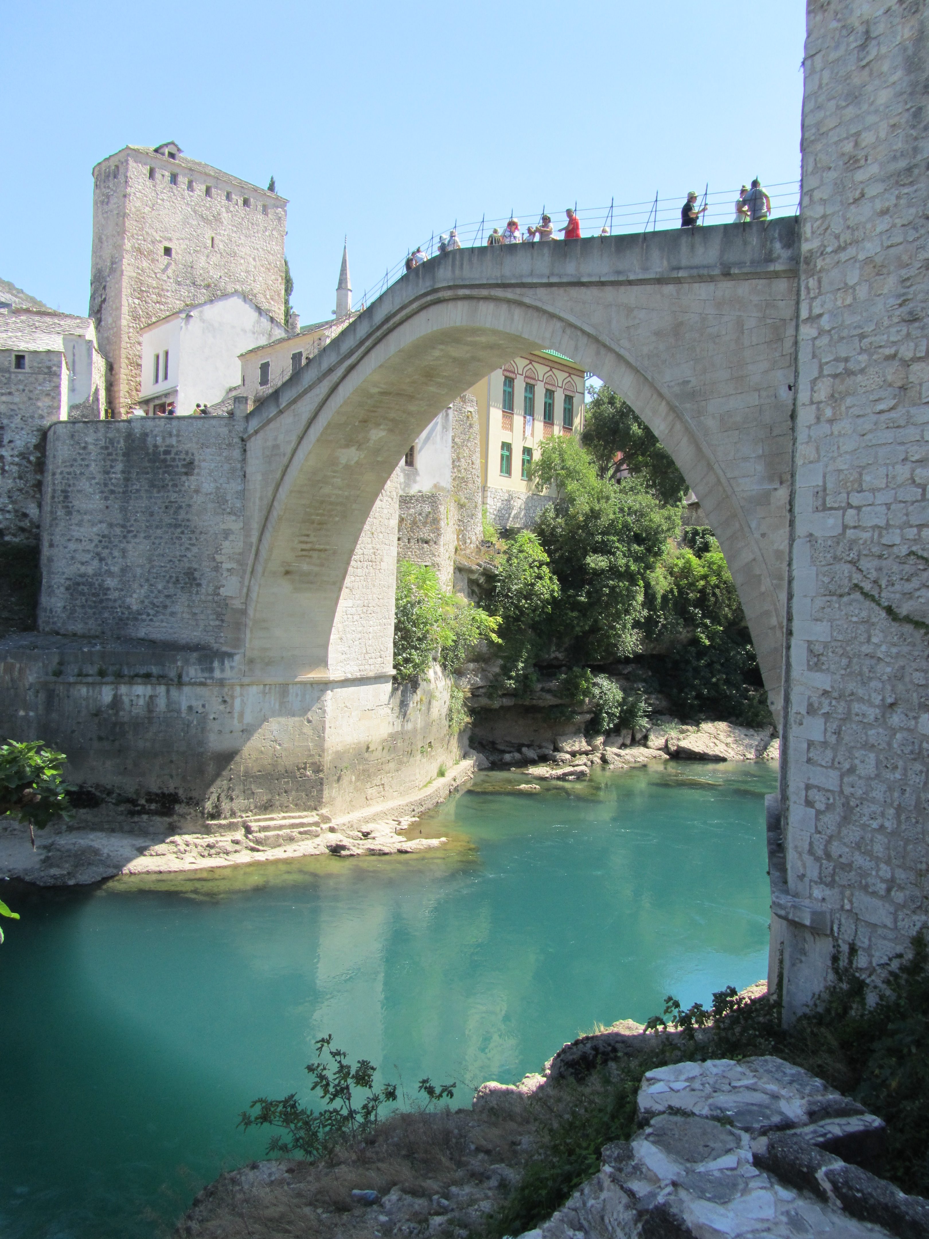
[[[239,383],[239,353],[280,339],[281,323],[242,292],[159,318],[141,331],[140,403],[168,416],[218,404]]]

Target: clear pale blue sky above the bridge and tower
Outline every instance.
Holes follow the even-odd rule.
[[[90,169],[168,139],[275,176],[303,322],[346,233],[358,300],[456,217],[795,181],[803,38],[803,0],[11,5],[0,276],[85,313]]]

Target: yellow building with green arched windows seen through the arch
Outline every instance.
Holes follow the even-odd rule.
[[[481,484],[498,527],[535,523],[547,502],[533,492],[530,463],[546,439],[583,427],[585,372],[561,353],[517,357],[469,389],[481,429]]]

